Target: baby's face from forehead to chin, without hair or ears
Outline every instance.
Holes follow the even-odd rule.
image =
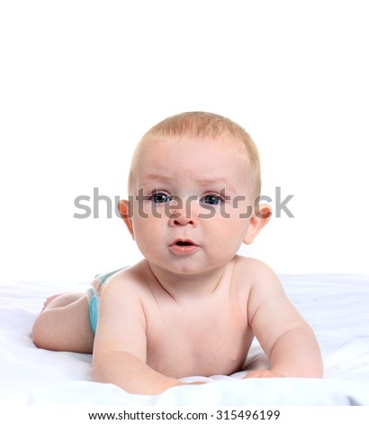
[[[160,139],[139,154],[131,225],[152,265],[193,274],[230,261],[253,205],[247,157],[238,141]],[[249,214],[248,214],[249,215]]]

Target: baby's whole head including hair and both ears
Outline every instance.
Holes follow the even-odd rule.
[[[253,243],[270,212],[257,213],[260,167],[250,136],[203,112],[169,117],[143,136],[129,193],[121,217],[139,250],[151,267],[182,274],[229,263],[242,243]]]

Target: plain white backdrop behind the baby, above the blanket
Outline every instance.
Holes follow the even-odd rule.
[[[2,1],[0,276],[88,281],[137,261],[103,201],[76,219],[74,200],[124,197],[139,137],[187,110],[244,126],[263,193],[294,195],[295,217],[241,253],[369,272],[368,22],[356,0]]]

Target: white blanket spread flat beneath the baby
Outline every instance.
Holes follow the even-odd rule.
[[[244,373],[216,375],[202,377],[209,384],[178,386],[157,396],[132,395],[112,384],[94,383],[91,355],[35,347],[31,327],[44,299],[66,288],[4,281],[0,283],[0,404],[369,405],[369,278],[332,274],[282,275],[281,279],[315,331],[325,378],[242,380]],[[249,362],[253,367],[266,363],[257,342]]]

